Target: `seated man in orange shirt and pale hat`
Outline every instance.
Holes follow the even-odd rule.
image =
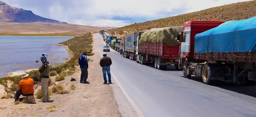
[[[19,87],[15,93],[14,99],[15,101],[19,100],[20,96],[34,96],[34,80],[31,78],[28,78],[27,73],[22,73],[23,78],[20,83]]]

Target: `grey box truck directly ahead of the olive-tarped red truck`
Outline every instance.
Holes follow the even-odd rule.
[[[134,45],[135,39],[138,37],[138,33],[126,34],[124,36],[123,43],[123,57],[135,60],[136,46]]]

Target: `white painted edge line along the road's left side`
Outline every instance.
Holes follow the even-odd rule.
[[[100,57],[103,57],[102,54],[100,54]],[[131,103],[132,107],[135,109],[136,113],[139,115],[139,117],[144,117],[144,115],[142,114],[142,112],[139,110],[139,108],[137,107],[137,105],[133,102],[133,100],[131,99],[131,97],[128,95],[128,93],[124,90],[123,86],[119,83],[119,81],[117,80],[117,78],[115,77],[115,75],[113,74],[113,72],[110,71],[111,76],[115,79],[115,81],[117,82],[118,86],[120,87],[120,89],[122,90],[122,92],[124,93],[125,97],[128,99],[128,101]]]

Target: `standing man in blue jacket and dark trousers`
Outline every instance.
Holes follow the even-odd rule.
[[[84,52],[78,60],[78,63],[80,65],[80,69],[81,69],[81,79],[80,79],[80,83],[84,83],[84,84],[89,84],[87,80],[88,78],[88,61],[87,61],[87,57],[86,57],[87,52]]]

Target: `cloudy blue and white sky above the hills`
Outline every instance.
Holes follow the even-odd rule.
[[[1,0],[70,24],[122,27],[251,0]]]

